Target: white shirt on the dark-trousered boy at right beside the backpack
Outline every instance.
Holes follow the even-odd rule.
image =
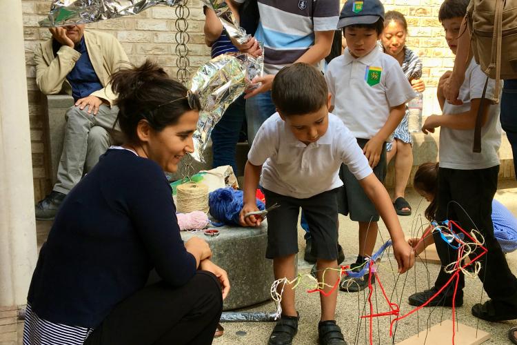
[[[487,75],[481,71],[474,58],[465,71],[465,81],[460,87],[458,99],[463,101],[461,106],[454,106],[445,101],[442,116],[455,116],[470,110],[472,99],[483,96],[483,88]],[[503,81],[500,81],[500,90],[503,89]],[[487,102],[494,101],[494,88],[496,81],[488,79],[486,98]],[[474,129],[453,130],[440,128],[440,167],[459,170],[474,170],[491,168],[500,164],[498,157],[501,145],[501,125],[499,122],[500,104],[489,106],[487,122],[481,128],[481,152],[472,152],[474,145]]]

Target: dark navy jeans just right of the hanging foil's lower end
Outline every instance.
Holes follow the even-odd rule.
[[[230,104],[223,117],[212,130],[212,166],[232,166],[234,174],[239,176],[235,161],[235,152],[239,135],[246,115],[244,95]]]

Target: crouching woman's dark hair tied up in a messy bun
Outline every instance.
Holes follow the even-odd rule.
[[[176,124],[185,112],[201,110],[199,98],[179,81],[170,79],[156,63],[146,60],[141,66],[131,66],[111,76],[119,106],[115,124],[119,124],[128,141],[139,141],[136,127],[141,120],[159,132]]]

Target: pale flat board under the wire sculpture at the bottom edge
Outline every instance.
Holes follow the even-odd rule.
[[[454,337],[454,344],[456,345],[477,345],[486,342],[490,333],[478,329],[478,336],[476,337],[476,328],[466,326],[464,324],[454,324],[456,328],[456,335]],[[425,337],[427,333],[427,339]],[[398,345],[423,345],[425,344],[452,344],[452,319],[444,320],[441,324],[436,324],[429,328],[425,328],[418,335],[413,335],[405,339]]]

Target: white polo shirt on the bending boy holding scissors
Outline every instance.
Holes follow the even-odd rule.
[[[372,173],[356,138],[332,114],[325,135],[305,145],[276,112],[259,128],[247,159],[262,166],[261,186],[297,199],[343,186],[338,176],[341,163],[347,164],[357,179]]]

